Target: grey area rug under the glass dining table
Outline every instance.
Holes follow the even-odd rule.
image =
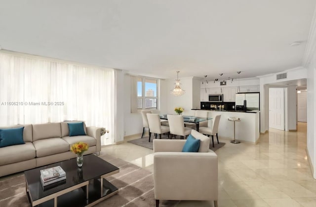
[[[159,136],[157,136],[157,138],[159,139]],[[128,141],[129,143],[132,143],[134,145],[138,145],[138,146],[142,146],[144,148],[149,148],[149,149],[153,149],[153,139],[155,139],[155,136],[152,135],[150,142],[148,142],[149,136],[144,136],[143,138],[139,138],[136,140],[131,140]],[[168,139],[167,135],[162,135],[161,139]],[[174,138],[172,138],[174,139]],[[177,136],[176,139],[180,139],[180,136]],[[216,140],[216,136],[214,137],[214,148],[212,145],[212,140],[209,144],[209,149],[216,151],[217,149],[223,147],[226,143],[220,142],[219,144],[217,144],[217,140]]]

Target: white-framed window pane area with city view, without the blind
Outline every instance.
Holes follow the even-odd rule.
[[[157,80],[137,78],[137,108],[157,109]]]

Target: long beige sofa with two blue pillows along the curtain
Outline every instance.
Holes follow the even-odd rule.
[[[83,124],[86,135],[69,136],[68,124],[79,121],[57,123],[24,124],[4,128],[23,127],[25,144],[0,148],[0,177],[40,167],[43,165],[76,157],[70,146],[76,142],[85,142],[89,149],[84,154],[101,151],[101,127]]]

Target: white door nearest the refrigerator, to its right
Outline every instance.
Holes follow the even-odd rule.
[[[284,89],[269,89],[269,127],[284,130]]]

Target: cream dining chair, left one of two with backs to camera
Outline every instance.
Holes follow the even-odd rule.
[[[161,125],[160,117],[158,114],[147,114],[147,119],[150,130],[148,142],[150,142],[150,137],[152,133],[155,133],[156,138],[157,134],[159,134],[159,139],[161,139],[161,134],[168,133],[169,138],[170,129],[168,126]]]

